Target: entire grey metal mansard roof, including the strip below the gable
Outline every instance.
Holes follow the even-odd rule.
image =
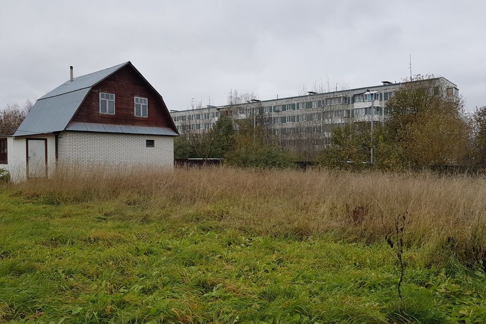
[[[179,134],[176,131],[176,127],[169,113],[167,113],[168,118],[174,129],[94,123],[70,123],[72,117],[85,100],[92,87],[129,64],[145,80],[145,82],[147,82],[130,61],[101,71],[75,77],[72,81],[69,80],[63,83],[53,91],[39,98],[13,136],[45,134],[61,132],[63,130],[178,136]],[[147,85],[160,96],[148,82]],[[162,99],[161,96],[160,99]],[[162,100],[162,103],[163,107],[167,109],[164,100]]]

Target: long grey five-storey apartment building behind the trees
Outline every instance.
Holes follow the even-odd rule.
[[[304,96],[254,99],[219,107],[173,110],[171,116],[182,134],[208,131],[221,115],[231,116],[234,120],[252,118],[255,125],[264,126],[280,145],[306,152],[330,144],[333,128],[348,121],[382,123],[388,114],[387,101],[404,84],[382,83],[326,93],[308,92]],[[440,84],[447,95],[458,95],[457,85],[446,78],[436,78],[436,84]]]

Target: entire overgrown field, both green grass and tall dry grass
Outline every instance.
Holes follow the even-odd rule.
[[[486,178],[177,169],[0,186],[0,322],[484,323]],[[403,300],[385,235],[407,212]]]

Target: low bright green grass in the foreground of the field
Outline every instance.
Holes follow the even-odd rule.
[[[0,322],[483,323],[486,277],[409,247],[265,236],[130,201],[0,191]]]

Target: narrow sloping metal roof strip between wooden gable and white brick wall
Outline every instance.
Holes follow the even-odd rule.
[[[71,121],[66,131],[178,136],[169,127],[125,126]]]

